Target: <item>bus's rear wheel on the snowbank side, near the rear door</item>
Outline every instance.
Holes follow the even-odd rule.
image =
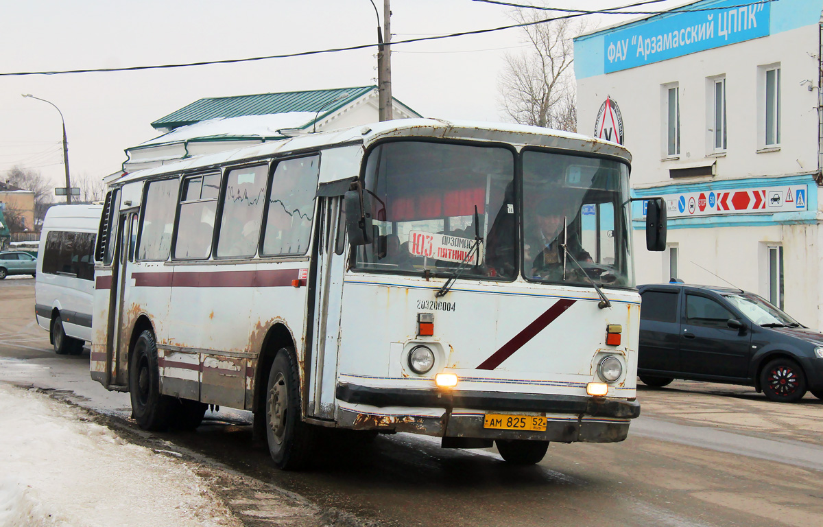
[[[132,399],[132,417],[143,430],[169,428],[174,409],[173,398],[160,394],[160,366],[157,345],[150,329],[144,330],[134,343],[128,364],[128,391]]]

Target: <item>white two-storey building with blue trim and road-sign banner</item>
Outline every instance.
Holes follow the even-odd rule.
[[[668,242],[638,283],[754,291],[823,329],[821,0],[707,0],[574,41],[578,131],[622,139]],[[619,109],[615,110],[615,107]]]

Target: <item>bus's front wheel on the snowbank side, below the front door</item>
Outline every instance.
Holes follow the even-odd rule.
[[[294,351],[283,347],[274,357],[266,388],[266,440],[279,469],[298,470],[309,464],[316,441],[314,427],[300,418],[300,376]]]

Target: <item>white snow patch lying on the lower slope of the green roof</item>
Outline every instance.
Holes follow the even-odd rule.
[[[314,115],[315,112],[288,112],[209,119],[176,128],[173,132],[141,143],[137,148],[202,138],[282,138],[285,136],[277,130],[302,128],[314,120]]]

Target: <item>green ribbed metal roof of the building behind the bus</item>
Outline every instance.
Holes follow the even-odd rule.
[[[319,110],[332,112],[375,89],[377,89],[375,86],[357,86],[332,90],[263,93],[255,96],[212,97],[197,100],[180,110],[157,119],[151,126],[173,130],[180,126],[221,117],[318,112]],[[346,93],[348,96],[344,96]],[[335,103],[337,97],[342,97],[342,99],[337,100]]]

